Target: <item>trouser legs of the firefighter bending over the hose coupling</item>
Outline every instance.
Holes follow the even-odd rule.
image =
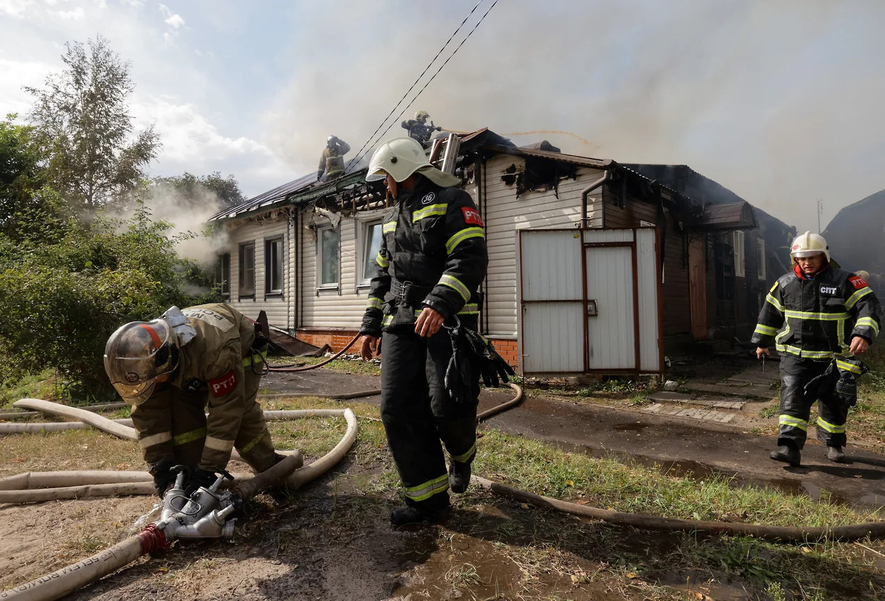
[[[246,367],[243,382],[245,411],[234,441],[236,450],[255,472],[263,472],[276,462],[264,411],[256,400],[260,381],[261,375]],[[206,397],[205,389],[196,393],[172,389],[170,398],[175,462],[191,468],[196,468],[200,463],[206,442]]]

